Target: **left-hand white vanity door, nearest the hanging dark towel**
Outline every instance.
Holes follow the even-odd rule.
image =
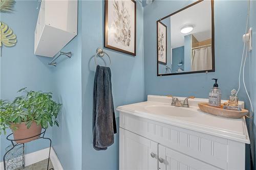
[[[119,169],[158,169],[158,144],[120,128]]]

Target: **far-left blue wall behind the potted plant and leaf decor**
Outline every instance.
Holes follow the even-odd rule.
[[[53,75],[47,65],[49,58],[34,55],[34,31],[38,10],[36,1],[16,1],[12,14],[1,13],[1,21],[7,23],[17,36],[13,47],[2,47],[1,60],[1,99],[13,100],[16,91],[23,87],[29,90],[52,91]],[[8,131],[10,133],[10,131]],[[51,128],[47,136],[52,135]],[[1,135],[1,160],[7,145],[11,144]],[[49,147],[43,140],[26,144],[26,152],[34,152]]]

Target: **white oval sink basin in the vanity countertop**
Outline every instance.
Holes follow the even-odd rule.
[[[176,116],[176,117],[194,117],[196,112],[188,110],[187,108],[176,106],[145,106],[145,110],[151,114],[164,115],[164,116]]]

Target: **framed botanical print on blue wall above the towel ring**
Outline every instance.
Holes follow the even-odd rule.
[[[136,2],[105,0],[106,48],[136,56]]]

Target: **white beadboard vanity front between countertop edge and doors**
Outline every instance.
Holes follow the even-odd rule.
[[[211,169],[244,169],[245,143],[242,142],[191,131],[122,112],[120,112],[120,129],[133,132],[134,135],[143,136],[170,150],[205,162],[207,167],[217,167]],[[120,145],[121,151],[124,150],[122,147],[123,145]],[[238,153],[234,154],[234,151]],[[191,168],[194,167],[191,166]]]

